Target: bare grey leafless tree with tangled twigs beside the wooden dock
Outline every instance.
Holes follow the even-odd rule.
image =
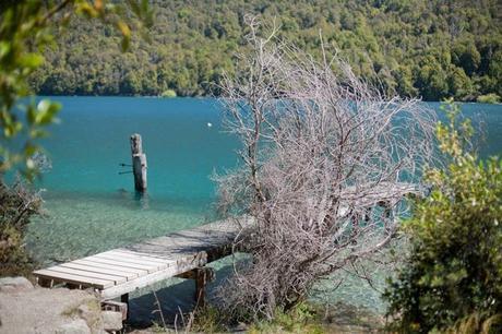
[[[434,119],[324,49],[315,61],[248,22],[251,52],[223,85],[242,166],[217,181],[223,211],[255,218],[242,244],[253,260],[223,291],[230,311],[271,318],[392,240],[403,198],[418,190],[404,181],[418,181],[430,159]]]

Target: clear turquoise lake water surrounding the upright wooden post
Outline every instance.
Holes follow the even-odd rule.
[[[40,181],[47,215],[31,225],[27,237],[29,250],[43,264],[89,255],[214,219],[215,187],[210,176],[238,164],[238,143],[224,132],[217,100],[51,99],[60,102],[63,110],[61,123],[52,127],[52,135],[43,142],[52,163]],[[439,109],[439,104],[429,105]],[[483,129],[481,155],[500,154],[502,106],[463,104],[462,108]],[[132,133],[142,135],[148,159],[148,191],[142,199],[133,191],[132,175],[119,174],[130,170],[119,164],[130,164]],[[183,284],[190,288],[188,283]],[[354,298],[354,294],[345,294],[346,298]],[[187,296],[182,289],[166,295],[179,298],[176,302],[190,300],[190,294]],[[379,302],[378,295],[366,299],[370,306]],[[138,305],[148,302],[153,303],[145,299]],[[136,307],[134,312],[138,319],[148,318],[147,308]]]

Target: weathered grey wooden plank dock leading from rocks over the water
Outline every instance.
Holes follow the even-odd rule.
[[[196,270],[228,255],[236,237],[250,225],[250,218],[215,222],[38,270],[34,275],[41,286],[93,288],[103,300],[194,270],[194,275],[186,277],[204,279],[196,277]]]

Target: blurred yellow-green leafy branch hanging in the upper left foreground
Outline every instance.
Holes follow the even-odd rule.
[[[128,0],[128,8],[140,23],[151,26],[153,12],[146,0]],[[113,25],[122,36],[122,50],[129,47],[131,29],[125,7],[105,0],[2,1],[0,3],[0,175],[23,163],[23,172],[33,177],[36,164],[32,156],[40,150],[36,140],[48,134],[47,126],[56,121],[61,108],[44,99],[23,102],[32,92],[29,75],[40,68],[44,51],[53,40],[52,29],[68,24],[73,15],[99,19]],[[23,138],[21,150],[13,150],[13,140]]]

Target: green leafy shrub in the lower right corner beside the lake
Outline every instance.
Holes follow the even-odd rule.
[[[501,333],[502,162],[479,160],[470,122],[455,105],[444,109],[437,136],[445,167],[429,170],[431,193],[404,223],[411,253],[384,294],[391,329]]]

